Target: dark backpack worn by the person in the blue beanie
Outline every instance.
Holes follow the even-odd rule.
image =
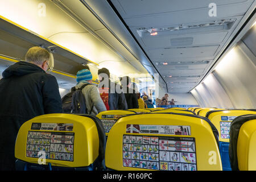
[[[86,102],[84,98],[84,94],[82,94],[82,89],[87,85],[92,84],[84,84],[81,88],[76,89],[75,86],[71,89],[71,92],[65,94],[65,96],[61,99],[62,101],[62,109],[63,113],[67,114],[90,114],[92,113],[92,109],[88,113],[86,109]]]

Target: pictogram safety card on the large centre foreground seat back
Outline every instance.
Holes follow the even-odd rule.
[[[123,135],[123,167],[196,171],[195,138]]]

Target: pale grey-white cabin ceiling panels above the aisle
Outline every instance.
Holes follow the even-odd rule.
[[[185,93],[208,72],[254,1],[216,0],[216,17],[209,16],[211,1],[205,0],[108,2],[164,78],[168,91]],[[150,35],[154,30],[158,35]]]

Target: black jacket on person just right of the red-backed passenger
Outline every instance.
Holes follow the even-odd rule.
[[[137,94],[135,93],[135,90],[126,87],[123,88],[123,93],[125,93],[128,109],[138,109],[138,97]]]

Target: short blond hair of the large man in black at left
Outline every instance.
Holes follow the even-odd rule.
[[[31,47],[26,53],[26,61],[42,65],[44,61],[49,61],[50,53],[42,47]]]

